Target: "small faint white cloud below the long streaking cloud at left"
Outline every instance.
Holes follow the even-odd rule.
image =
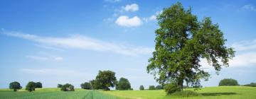
[[[57,57],[57,56],[46,56],[46,57],[41,57],[41,56],[33,56],[33,55],[27,55],[26,57],[39,60],[39,61],[60,61],[63,60],[63,57]]]

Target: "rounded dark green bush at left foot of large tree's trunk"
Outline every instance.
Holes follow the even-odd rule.
[[[164,86],[164,90],[166,91],[167,95],[170,95],[176,91],[181,91],[181,88],[179,88],[176,83],[169,83]]]

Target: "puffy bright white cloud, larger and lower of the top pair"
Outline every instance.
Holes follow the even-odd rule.
[[[142,25],[141,19],[137,16],[134,16],[133,18],[129,18],[129,16],[119,16],[115,23],[124,27],[137,27]]]

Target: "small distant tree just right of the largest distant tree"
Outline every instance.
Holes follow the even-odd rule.
[[[117,82],[117,90],[131,90],[131,84],[129,83],[127,78],[120,78]]]

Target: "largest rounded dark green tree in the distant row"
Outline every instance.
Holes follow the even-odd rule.
[[[95,79],[97,87],[105,91],[110,91],[109,87],[114,87],[117,84],[117,78],[114,74],[113,71],[99,71]]]

